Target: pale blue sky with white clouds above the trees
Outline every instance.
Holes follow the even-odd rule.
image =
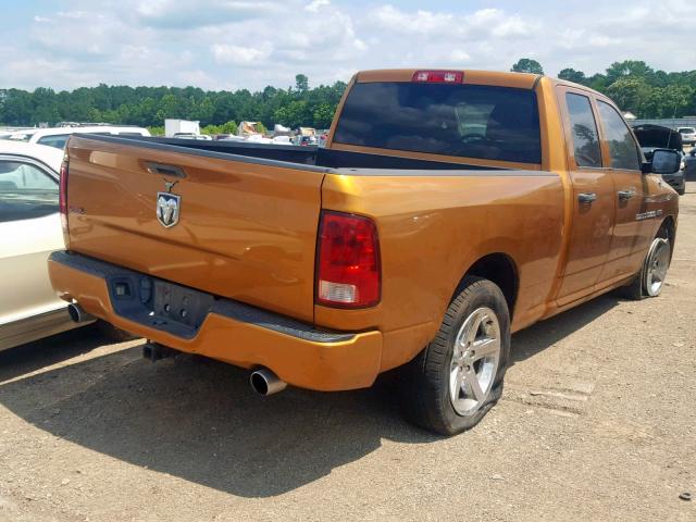
[[[25,0],[2,5],[0,88],[195,85],[287,87],[381,67],[509,70],[549,75],[611,62],[695,69],[696,2],[366,0]]]

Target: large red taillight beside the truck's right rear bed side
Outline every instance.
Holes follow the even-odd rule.
[[[322,212],[316,260],[316,302],[364,308],[380,302],[380,241],[369,217]]]

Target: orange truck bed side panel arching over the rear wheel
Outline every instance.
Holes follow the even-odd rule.
[[[563,232],[557,174],[327,175],[322,201],[324,209],[376,221],[383,279],[377,307],[315,306],[316,324],[385,332],[383,370],[406,362],[434,336],[462,276],[488,253],[506,253],[519,272],[513,330],[546,308]],[[398,341],[389,346],[389,333],[398,331],[409,335],[394,336]]]

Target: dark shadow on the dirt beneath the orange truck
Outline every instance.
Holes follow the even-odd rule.
[[[599,298],[515,335],[513,360],[543,351],[616,302]],[[66,359],[86,344],[104,344],[89,335],[78,349],[65,348]],[[55,363],[58,356],[47,359],[33,348],[0,353],[0,403],[14,414],[64,440],[244,497],[311,483],[371,453],[383,438],[440,438],[402,421],[389,380],[368,390],[288,388],[261,398],[251,391],[248,372],[202,358],[151,364],[137,346],[40,372],[41,361]],[[36,373],[25,376],[30,371]]]

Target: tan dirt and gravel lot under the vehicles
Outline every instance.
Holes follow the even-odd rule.
[[[0,520],[694,521],[695,262],[691,184],[662,296],[515,335],[504,399],[453,438],[388,385],[262,399],[94,331],[0,353]]]

